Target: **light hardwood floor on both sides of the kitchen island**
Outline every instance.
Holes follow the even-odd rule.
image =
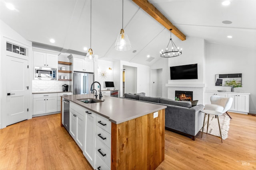
[[[201,133],[195,141],[165,131],[165,160],[158,170],[256,169],[256,116],[230,113],[228,139]],[[34,117],[0,129],[0,170],[92,170],[60,114]]]

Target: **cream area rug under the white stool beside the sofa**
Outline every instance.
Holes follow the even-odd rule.
[[[207,131],[207,121],[208,121],[208,115],[206,115],[205,117],[204,133],[206,133]],[[230,118],[227,115],[220,115],[219,121],[220,121],[222,139],[225,140],[228,138]],[[215,118],[215,115],[209,115],[208,134],[220,137],[220,129],[218,125],[218,118],[217,117]],[[202,132],[202,129],[200,131]]]

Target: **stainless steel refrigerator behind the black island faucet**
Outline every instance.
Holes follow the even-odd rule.
[[[74,94],[90,94],[93,82],[93,73],[74,72]]]

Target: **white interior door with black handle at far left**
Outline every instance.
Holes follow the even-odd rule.
[[[6,56],[6,126],[28,119],[28,61]]]

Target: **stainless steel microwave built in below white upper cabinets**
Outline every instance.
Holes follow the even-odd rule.
[[[35,67],[34,80],[56,80],[56,68]]]

